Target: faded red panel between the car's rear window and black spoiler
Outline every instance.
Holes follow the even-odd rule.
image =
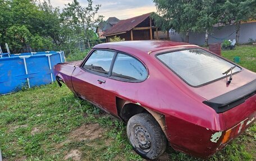
[[[202,96],[202,98],[210,100],[216,98],[217,96],[228,93],[232,90],[240,88],[241,86],[246,85],[249,82],[252,82],[256,79],[256,73],[243,69],[242,71],[232,75],[232,78],[233,80],[231,81],[230,85],[226,84],[227,80],[229,79],[228,76],[224,79],[214,81],[211,84],[207,84],[199,88],[193,88],[191,86],[189,88],[193,90],[194,93]]]

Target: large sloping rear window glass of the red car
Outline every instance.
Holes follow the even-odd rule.
[[[235,66],[203,49],[163,53],[157,55],[157,58],[191,86],[200,86],[225,77],[223,72]],[[236,66],[232,73],[240,70]]]

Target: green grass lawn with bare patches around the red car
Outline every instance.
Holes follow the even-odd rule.
[[[256,72],[255,46],[222,54]],[[124,123],[56,83],[0,96],[0,149],[3,160],[143,160]],[[202,160],[171,148],[159,160],[168,159]],[[256,160],[256,124],[208,160]]]

